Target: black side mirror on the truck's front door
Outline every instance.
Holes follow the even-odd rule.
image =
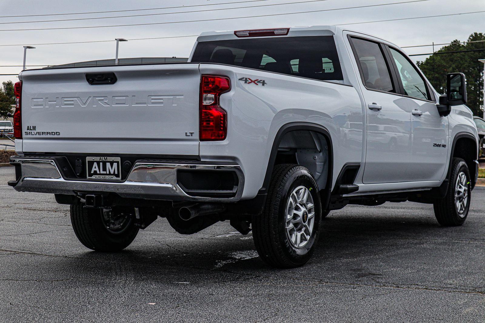
[[[446,94],[439,97],[438,113],[447,116],[451,107],[467,103],[467,80],[463,73],[450,73],[446,75]]]

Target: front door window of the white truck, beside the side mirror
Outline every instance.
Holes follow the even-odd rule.
[[[399,51],[390,47],[389,49],[403,82],[404,95],[429,100],[426,82],[416,70],[416,67]]]

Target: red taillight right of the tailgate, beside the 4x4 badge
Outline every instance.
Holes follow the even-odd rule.
[[[231,84],[222,76],[202,75],[200,83],[199,140],[224,140],[227,135],[227,112],[219,105],[221,94],[229,91]]]

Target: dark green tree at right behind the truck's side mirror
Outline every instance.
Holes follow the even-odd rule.
[[[477,42],[479,41],[479,42]],[[483,42],[481,42],[483,41]],[[446,93],[446,74],[462,72],[467,78],[467,106],[475,115],[483,115],[484,65],[479,59],[485,58],[485,50],[440,54],[447,51],[462,51],[485,48],[485,34],[474,32],[467,42],[453,40],[451,45],[442,47],[418,66],[438,93]]]

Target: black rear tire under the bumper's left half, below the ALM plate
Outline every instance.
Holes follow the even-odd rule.
[[[130,211],[129,208],[113,208],[117,215],[127,214],[126,218],[122,218],[124,222],[118,223],[118,227],[116,224],[107,224],[103,216],[106,214],[104,209],[71,205],[71,224],[76,237],[87,248],[104,252],[120,251],[128,247],[138,234],[139,228],[135,226]]]

